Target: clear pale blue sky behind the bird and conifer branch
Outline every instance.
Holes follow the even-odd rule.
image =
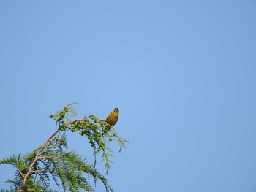
[[[41,145],[48,115],[78,101],[78,118],[120,110],[115,191],[256,191],[255,0],[0,0],[0,27],[0,158]],[[1,188],[14,170],[0,166]]]

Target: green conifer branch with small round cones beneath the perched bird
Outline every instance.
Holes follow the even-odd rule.
[[[59,127],[42,146],[26,155],[13,155],[0,161],[0,165],[10,164],[17,169],[14,179],[7,180],[11,185],[9,191],[53,191],[50,180],[54,180],[63,191],[94,191],[90,177],[94,179],[94,184],[101,181],[105,191],[113,191],[105,176],[97,172],[97,156],[101,154],[105,174],[108,174],[112,163],[110,158],[113,157],[110,143],[118,141],[121,151],[129,141],[118,136],[113,128],[109,130],[108,123],[94,115],[70,120],[70,117],[77,115],[72,104],[50,115]],[[88,139],[94,150],[94,164],[86,162],[75,150],[68,151],[66,131],[77,132]],[[5,192],[4,189],[1,191]]]

